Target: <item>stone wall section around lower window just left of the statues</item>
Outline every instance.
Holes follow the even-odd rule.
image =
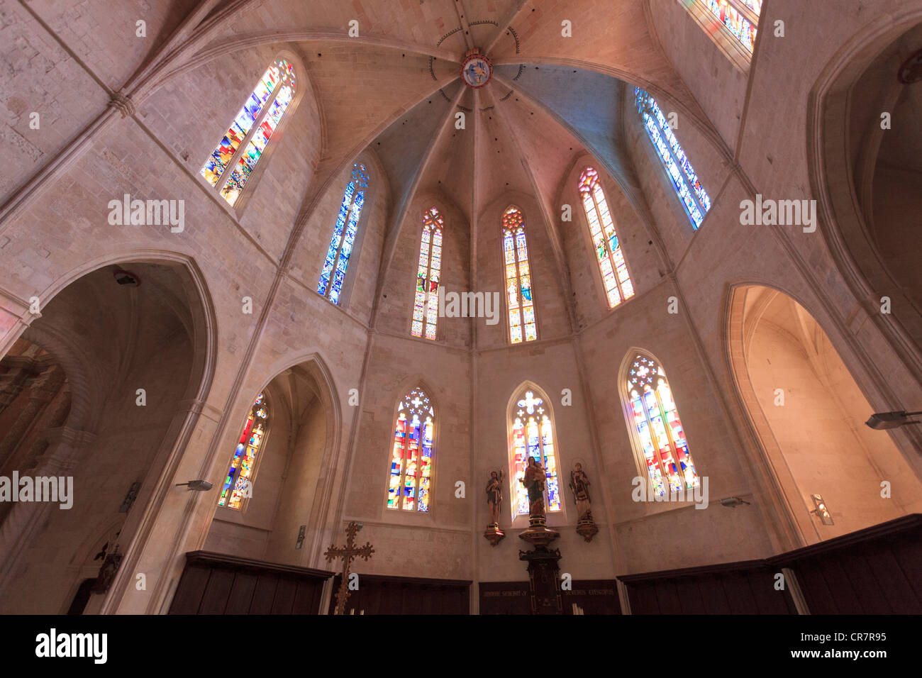
[[[371,541],[375,554],[358,562],[354,571],[474,578],[470,511],[477,501],[477,483],[470,478],[470,454],[482,443],[471,425],[470,384],[467,351],[408,336],[373,336],[358,407],[358,442],[343,485],[342,520],[363,523],[361,543]],[[435,410],[428,513],[386,507],[398,402],[414,387],[423,389]],[[455,496],[458,481],[467,485],[464,497]]]

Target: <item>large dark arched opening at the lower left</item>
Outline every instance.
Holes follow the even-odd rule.
[[[184,447],[189,402],[207,391],[201,289],[179,261],[96,268],[44,303],[0,363],[0,422],[23,432],[4,441],[0,476],[59,485],[59,501],[36,491],[0,516],[4,612],[66,613],[107,557],[124,564],[143,546],[137,529]],[[121,595],[109,584],[84,613]]]

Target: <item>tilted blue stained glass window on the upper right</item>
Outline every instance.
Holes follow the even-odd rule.
[[[682,150],[679,139],[672,133],[672,128],[656,100],[640,88],[634,89],[634,98],[637,111],[644,117],[646,133],[656,148],[659,160],[666,167],[682,207],[691,219],[691,227],[697,230],[704,220],[704,215],[711,208],[711,198],[704,190],[685,151]]]

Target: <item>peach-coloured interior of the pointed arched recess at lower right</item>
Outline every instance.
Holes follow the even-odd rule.
[[[727,348],[771,475],[761,482],[776,484],[802,541],[919,510],[922,483],[891,436],[864,424],[868,398],[803,306],[760,285],[734,289]]]

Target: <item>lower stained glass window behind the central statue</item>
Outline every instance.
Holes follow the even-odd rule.
[[[538,460],[548,472],[545,506],[549,513],[563,510],[560,459],[554,411],[548,394],[532,381],[524,381],[513,391],[506,406],[509,450],[509,506],[513,520],[528,515],[528,493],[521,480],[528,457]]]

